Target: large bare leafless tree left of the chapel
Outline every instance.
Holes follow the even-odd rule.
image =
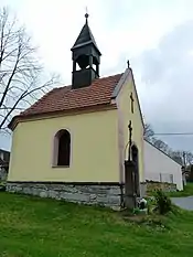
[[[7,128],[12,115],[26,108],[56,82],[45,79],[43,67],[25,29],[0,9],[0,131]]]

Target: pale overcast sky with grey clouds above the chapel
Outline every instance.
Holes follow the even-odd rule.
[[[129,58],[146,121],[156,132],[193,132],[192,0],[1,0],[24,23],[49,71],[71,84],[71,47],[88,8],[103,53],[100,75],[124,72]],[[193,136],[162,137],[193,151]],[[1,137],[0,148],[10,148]]]

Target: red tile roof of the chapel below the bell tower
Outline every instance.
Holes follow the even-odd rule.
[[[72,86],[54,88],[20,117],[110,105],[111,94],[122,74],[97,78],[88,87],[72,89]]]

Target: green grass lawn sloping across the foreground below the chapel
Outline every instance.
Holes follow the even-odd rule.
[[[1,192],[0,256],[192,257],[193,212],[157,219]]]

